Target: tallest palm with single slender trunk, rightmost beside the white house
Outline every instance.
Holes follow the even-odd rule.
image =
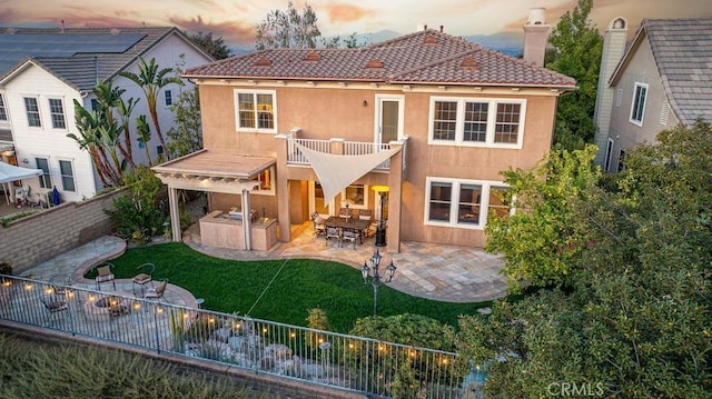
[[[139,58],[138,69],[138,74],[128,71],[120,72],[119,74],[134,81],[141,88],[141,90],[144,90],[144,93],[146,94],[146,101],[148,101],[148,112],[151,114],[151,120],[154,121],[154,129],[156,129],[158,140],[160,140],[160,144],[165,149],[166,140],[164,139],[164,134],[160,130],[160,124],[158,123],[156,101],[160,89],[169,83],[182,86],[182,81],[175,76],[167,76],[168,73],[171,73],[174,71],[172,68],[164,68],[159,70],[155,58],[151,58],[148,63],[146,63],[146,60],[144,60],[144,58]]]

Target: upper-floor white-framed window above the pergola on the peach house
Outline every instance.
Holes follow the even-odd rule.
[[[275,132],[275,92],[235,91],[237,129],[244,131]]]

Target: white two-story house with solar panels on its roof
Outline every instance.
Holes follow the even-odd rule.
[[[88,110],[92,102],[96,107],[91,90],[98,80],[112,80],[113,87],[125,89],[125,101],[140,99],[130,117],[131,132],[136,118],[146,114],[151,128],[148,147],[155,159],[162,148],[145,94],[119,76],[122,71],[139,74],[139,58],[147,62],[155,58],[159,69],[212,61],[176,28],[9,28],[0,32],[0,160],[44,171],[39,179],[23,182],[31,192],[57,187],[62,201],[92,197],[102,184],[91,157],[67,134],[79,136],[73,100]],[[187,87],[171,83],[158,94],[158,119],[167,140],[175,122],[169,106]],[[134,160],[146,163],[146,150],[136,137],[131,147]]]

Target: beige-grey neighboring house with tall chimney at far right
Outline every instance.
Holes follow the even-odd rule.
[[[627,49],[626,24],[611,22],[599,80],[596,161],[610,172],[660,131],[712,121],[712,18],[644,19]]]

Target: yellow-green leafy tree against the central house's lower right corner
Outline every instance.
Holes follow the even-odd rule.
[[[513,292],[522,286],[565,286],[576,272],[575,260],[587,246],[574,208],[586,201],[600,171],[593,166],[595,146],[553,150],[532,170],[503,172],[511,186],[504,202],[513,216],[491,218],[486,249],[505,255],[503,273]]]

